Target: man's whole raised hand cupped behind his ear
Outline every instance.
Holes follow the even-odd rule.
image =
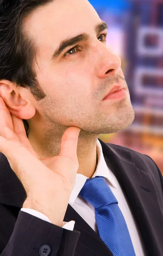
[[[60,227],[79,168],[80,130],[69,127],[63,134],[60,154],[40,159],[26,136],[22,119],[11,114],[0,97],[0,152],[26,190],[23,207],[42,212]]]

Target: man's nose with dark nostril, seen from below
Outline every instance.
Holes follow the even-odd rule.
[[[121,59],[109,47],[99,42],[96,75],[99,78],[115,76],[121,67]]]

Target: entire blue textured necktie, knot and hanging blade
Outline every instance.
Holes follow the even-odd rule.
[[[135,256],[126,221],[104,177],[86,180],[79,195],[93,205],[100,238],[114,256]]]

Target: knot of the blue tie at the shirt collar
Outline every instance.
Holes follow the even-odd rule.
[[[112,190],[102,176],[87,179],[79,195],[92,204],[94,208],[118,204]]]

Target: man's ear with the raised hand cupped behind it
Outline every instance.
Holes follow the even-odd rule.
[[[34,116],[36,109],[28,99],[29,92],[26,94],[27,98],[23,99],[22,89],[27,90],[23,87],[16,87],[8,80],[0,80],[0,97],[4,100],[10,113],[21,119],[30,119]]]

